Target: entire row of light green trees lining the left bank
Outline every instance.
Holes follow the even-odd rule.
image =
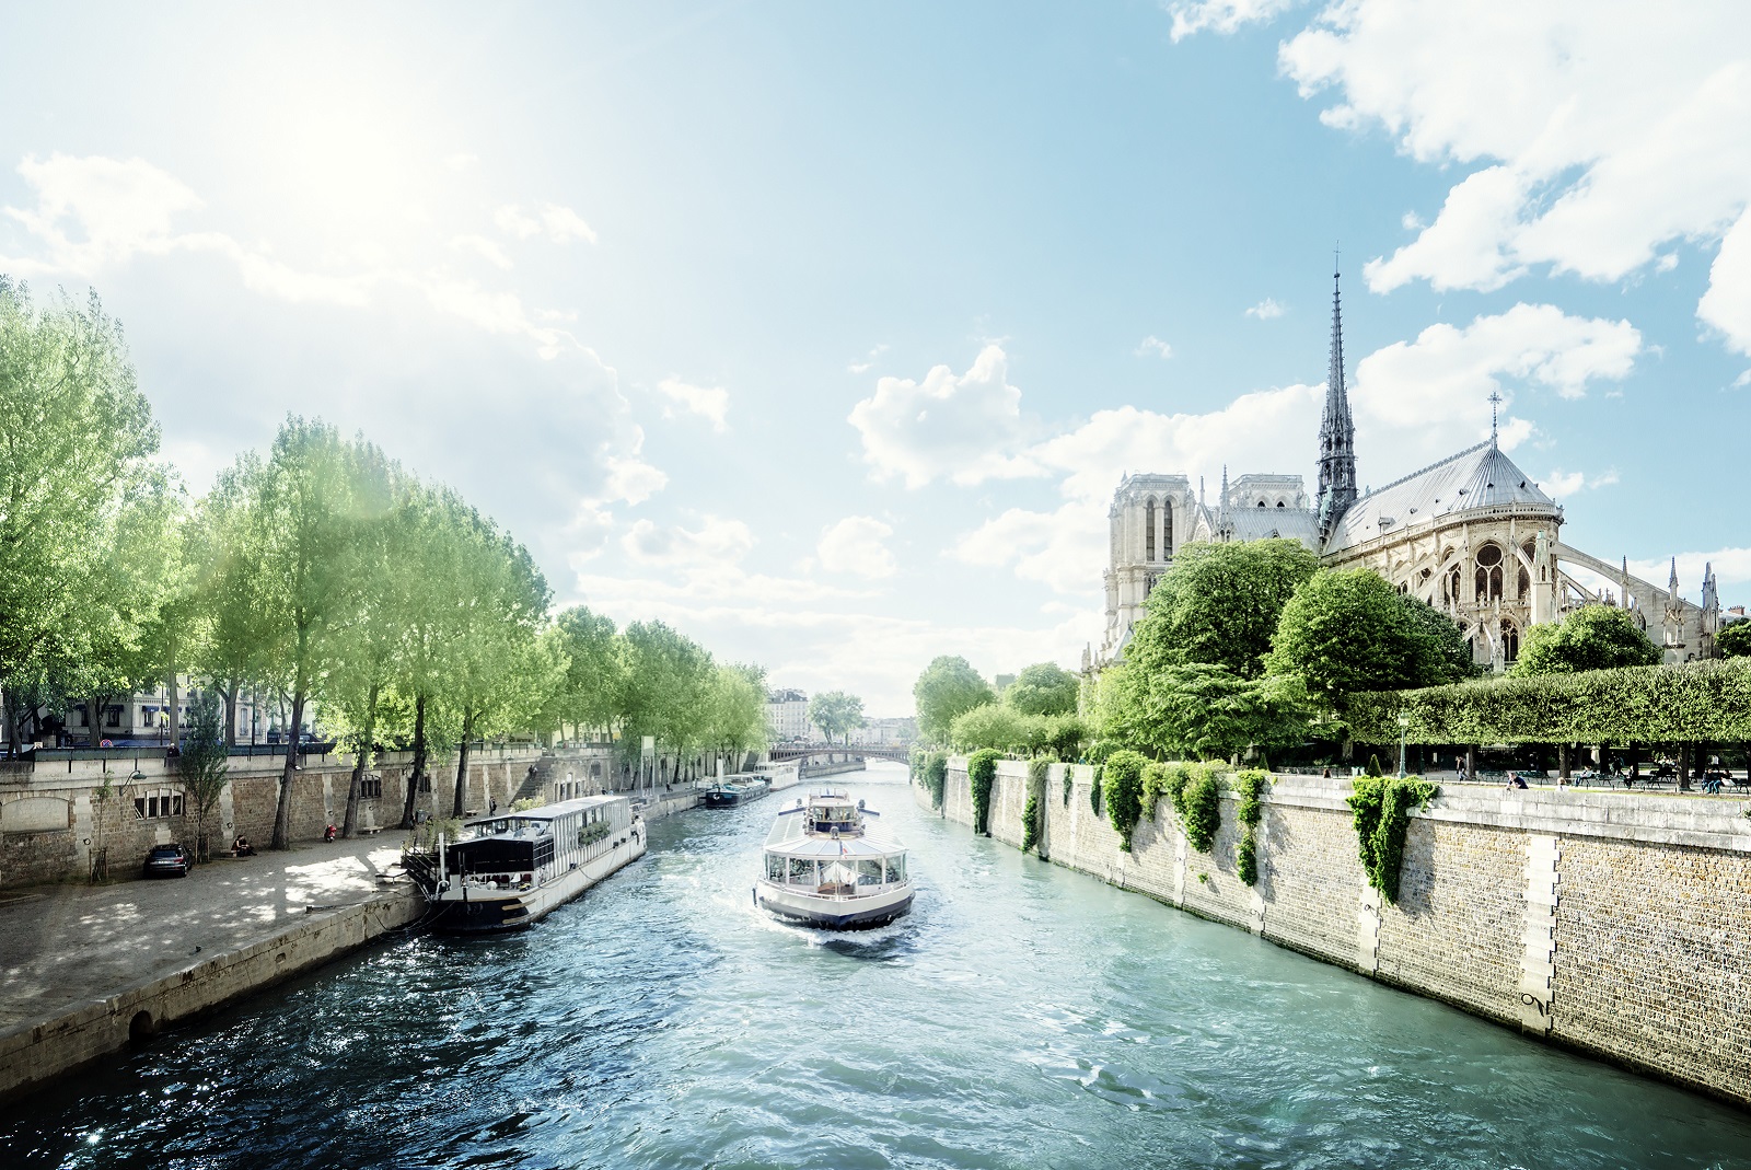
[[[121,328],[93,296],[37,307],[0,278],[0,694],[9,743],[39,709],[112,701],[180,676],[222,697],[280,695],[287,751],[273,844],[287,842],[298,730],[357,753],[345,830],[380,743],[413,751],[404,821],[436,748],[513,732],[599,730],[671,757],[765,736],[765,678],[720,666],[660,622],[550,617],[529,552],[454,490],[361,438],[289,417],[191,503],[158,457]],[[172,720],[175,725],[175,720]],[[172,730],[175,736],[175,730]]]

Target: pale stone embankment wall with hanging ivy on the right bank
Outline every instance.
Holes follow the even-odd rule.
[[[1168,800],[1131,851],[1054,764],[1042,856],[1340,967],[1641,1072],[1751,1103],[1751,820],[1744,800],[1448,786],[1411,814],[1397,904],[1368,886],[1348,779],[1275,776],[1259,881],[1234,795],[1210,853]],[[1070,774],[1068,799],[1065,774]],[[1026,764],[998,765],[991,835],[1021,846]],[[930,797],[914,795],[928,807]],[[944,814],[972,825],[967,762]]]

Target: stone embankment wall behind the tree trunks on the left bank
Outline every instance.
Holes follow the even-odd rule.
[[[292,781],[291,839],[319,841],[329,821],[340,825],[352,785],[350,755],[306,755]],[[207,823],[208,848],[229,848],[238,834],[264,846],[273,835],[284,757],[231,757],[226,785]],[[609,748],[546,751],[539,748],[476,748],[469,757],[464,807],[485,811],[510,804],[536,767],[546,800],[615,786],[620,767]],[[415,807],[448,816],[455,797],[455,757],[431,757],[427,783]],[[138,772],[138,778],[135,778]],[[401,823],[413,753],[383,753],[371,762],[369,795],[359,802],[359,823]],[[100,851],[112,876],[140,870],[154,844],[180,841],[194,848],[194,814],[173,814],[182,793],[175,762],[163,751],[107,751],[100,758],[53,758],[0,765],[0,888],[86,878]]]

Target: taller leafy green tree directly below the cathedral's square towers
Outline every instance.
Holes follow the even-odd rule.
[[[1257,678],[1283,606],[1317,569],[1319,557],[1292,539],[1185,545],[1150,590],[1124,657],[1145,673],[1208,662]]]

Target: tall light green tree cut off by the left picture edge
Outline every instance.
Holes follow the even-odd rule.
[[[0,687],[16,750],[14,690],[91,666],[93,638],[130,641],[103,597],[105,532],[159,475],[151,405],[95,294],[37,308],[0,277]]]

